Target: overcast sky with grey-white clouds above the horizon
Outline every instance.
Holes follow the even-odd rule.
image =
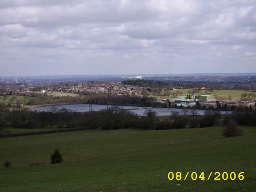
[[[0,75],[256,72],[256,0],[0,0]]]

